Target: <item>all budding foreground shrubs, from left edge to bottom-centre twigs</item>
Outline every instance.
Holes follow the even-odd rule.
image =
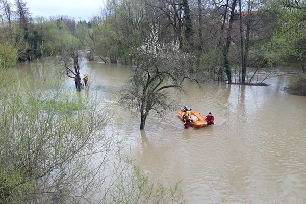
[[[59,71],[40,71],[17,80],[0,69],[0,204],[183,202],[177,185],[151,184],[122,157],[94,91],[82,97]]]

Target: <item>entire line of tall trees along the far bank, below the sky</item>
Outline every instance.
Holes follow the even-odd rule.
[[[304,5],[289,0],[107,0],[90,22],[75,22],[65,15],[33,18],[23,0],[1,0],[0,50],[8,50],[1,58],[11,65],[78,47],[87,49],[89,60],[96,56],[105,63],[135,64],[130,54],[154,25],[161,41],[195,54],[197,72],[250,83],[247,69],[281,61],[298,62],[305,71]]]

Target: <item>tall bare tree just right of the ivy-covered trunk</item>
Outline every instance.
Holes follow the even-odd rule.
[[[242,11],[242,8],[246,11]],[[260,61],[264,61],[263,44],[271,37],[269,28],[273,26],[273,20],[269,17],[269,7],[265,6],[264,1],[249,1],[245,5],[239,0],[239,32],[240,35],[234,37],[235,44],[240,40],[240,59],[241,59],[241,81],[247,83],[247,66],[253,66]],[[239,37],[238,37],[239,36]],[[240,72],[239,72],[240,74]]]

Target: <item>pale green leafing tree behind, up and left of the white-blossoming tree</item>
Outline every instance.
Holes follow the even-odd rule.
[[[146,1],[107,1],[105,17],[91,22],[93,32],[99,36],[96,40],[104,49],[102,53],[111,58],[117,56],[122,64],[131,64],[129,54],[148,36],[150,11]]]

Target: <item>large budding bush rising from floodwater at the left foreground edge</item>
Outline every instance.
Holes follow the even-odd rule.
[[[94,160],[120,143],[104,134],[111,113],[66,90],[59,73],[33,75],[6,75],[0,87],[0,203],[85,202],[100,184]]]

